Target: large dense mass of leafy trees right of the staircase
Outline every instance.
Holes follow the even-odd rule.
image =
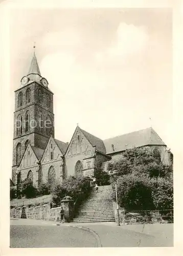
[[[119,204],[128,210],[173,208],[173,164],[164,165],[157,148],[132,148],[109,170],[118,172]],[[114,187],[114,179],[110,178]],[[112,194],[115,200],[115,191]]]

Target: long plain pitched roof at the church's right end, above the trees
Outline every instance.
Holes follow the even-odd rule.
[[[107,154],[145,145],[166,145],[152,127],[106,139],[103,142]],[[114,151],[112,150],[112,144]]]

